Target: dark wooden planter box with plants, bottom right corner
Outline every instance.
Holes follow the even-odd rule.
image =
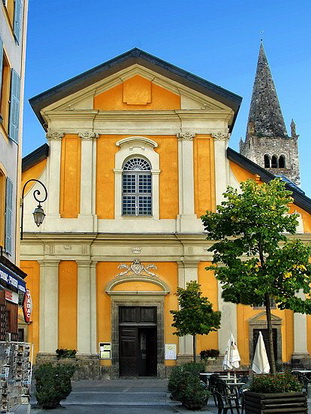
[[[263,414],[276,408],[279,414],[307,413],[307,397],[301,390],[302,384],[289,372],[255,375],[243,394],[245,413]]]

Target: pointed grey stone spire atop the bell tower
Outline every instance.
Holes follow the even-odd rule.
[[[262,43],[259,49],[247,125],[247,135],[250,134],[257,137],[287,137],[280,103]]]

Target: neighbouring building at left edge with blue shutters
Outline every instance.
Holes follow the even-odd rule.
[[[27,7],[27,0],[0,4],[0,341],[18,340],[26,289],[19,214]]]

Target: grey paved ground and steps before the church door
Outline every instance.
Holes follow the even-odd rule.
[[[150,378],[73,382],[73,390],[61,406],[43,410],[32,397],[31,408],[22,414],[186,414],[180,403],[167,393],[167,380]],[[308,400],[311,413],[311,399]],[[16,412],[19,414],[20,411]],[[213,399],[201,413],[217,413]]]

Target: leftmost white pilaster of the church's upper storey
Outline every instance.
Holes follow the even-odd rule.
[[[49,131],[46,137],[49,142],[49,157],[48,157],[48,192],[47,198],[47,214],[49,218],[60,217],[59,215],[59,200],[60,200],[60,159],[61,159],[61,144],[63,132]]]

